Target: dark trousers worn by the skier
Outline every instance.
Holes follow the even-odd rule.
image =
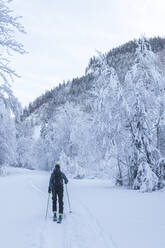
[[[63,203],[63,188],[55,189],[52,192],[52,200],[53,200],[53,212],[57,212],[57,197],[59,203],[59,213],[63,214],[64,203]]]

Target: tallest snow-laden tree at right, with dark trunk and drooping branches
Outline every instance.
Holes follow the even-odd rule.
[[[156,124],[160,118],[160,105],[164,95],[164,78],[159,70],[156,55],[145,39],[140,40],[136,51],[136,63],[125,78],[125,100],[128,109],[129,175],[133,184],[138,167],[144,160],[152,169],[154,154],[158,151],[154,141]]]

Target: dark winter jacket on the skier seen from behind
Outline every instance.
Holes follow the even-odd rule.
[[[55,168],[50,177],[49,192],[63,189],[63,182],[68,183],[67,177],[60,169]]]

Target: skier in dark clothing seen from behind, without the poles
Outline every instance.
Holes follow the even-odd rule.
[[[58,218],[58,223],[61,223],[62,217],[63,217],[63,208],[64,208],[64,203],[63,203],[63,192],[64,192],[64,187],[63,187],[63,181],[65,184],[68,183],[68,179],[65,176],[65,174],[61,171],[60,165],[56,164],[51,177],[49,181],[49,188],[48,188],[48,193],[52,193],[52,207],[53,207],[53,220],[57,221],[57,196],[58,196],[58,203],[59,203],[59,218]]]

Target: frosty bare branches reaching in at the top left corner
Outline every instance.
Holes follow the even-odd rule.
[[[0,1],[0,77],[1,82],[7,86],[16,72],[9,67],[10,51],[24,54],[23,45],[15,38],[17,31],[24,32],[23,26],[19,23],[20,17],[13,16],[8,7],[8,0]]]

